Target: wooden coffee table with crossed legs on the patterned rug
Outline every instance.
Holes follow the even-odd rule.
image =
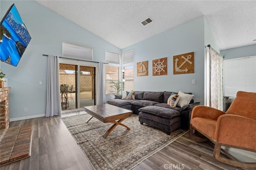
[[[124,119],[130,117],[132,115],[132,111],[109,104],[86,106],[84,109],[88,114],[92,116],[86,121],[86,123],[88,123],[93,117],[102,121],[103,123],[114,123],[114,125],[112,125],[112,127],[110,127],[103,135],[103,138],[107,138],[110,132],[112,132],[112,130],[114,130],[117,125],[122,125],[130,130],[129,127],[122,124],[121,122],[124,121]]]

